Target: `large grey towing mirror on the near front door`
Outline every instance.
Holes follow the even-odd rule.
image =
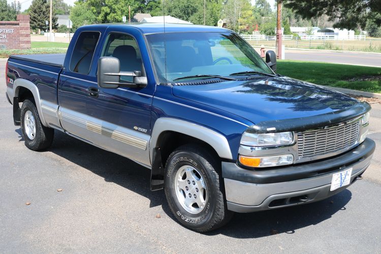
[[[124,82],[121,76],[133,77],[134,81]],[[103,56],[98,60],[98,85],[103,88],[143,88],[147,85],[147,78],[142,77],[141,71],[121,72],[118,58]]]

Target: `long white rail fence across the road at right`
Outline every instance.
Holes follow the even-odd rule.
[[[275,41],[276,36],[266,36],[266,35],[240,35],[243,39],[247,41]],[[315,41],[315,40],[321,40],[321,41],[365,41],[366,36],[365,35],[355,35],[355,36],[347,36],[347,37],[338,37],[337,35],[323,35],[323,36],[316,36],[316,35],[302,35],[295,37],[294,35],[282,35],[283,41],[291,41],[291,40],[307,40],[307,41]]]

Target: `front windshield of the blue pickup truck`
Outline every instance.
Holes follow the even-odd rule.
[[[273,74],[255,50],[233,33],[151,34],[147,40],[160,82],[248,71]]]

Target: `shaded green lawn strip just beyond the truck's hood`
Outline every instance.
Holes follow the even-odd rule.
[[[326,62],[279,60],[277,72],[314,84],[381,93],[381,68]],[[378,78],[350,81],[354,78],[361,79],[367,76],[377,76]]]

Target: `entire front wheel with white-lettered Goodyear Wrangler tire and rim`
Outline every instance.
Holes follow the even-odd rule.
[[[217,229],[231,218],[226,208],[220,162],[208,150],[185,145],[166,163],[165,193],[180,223],[198,232]]]

